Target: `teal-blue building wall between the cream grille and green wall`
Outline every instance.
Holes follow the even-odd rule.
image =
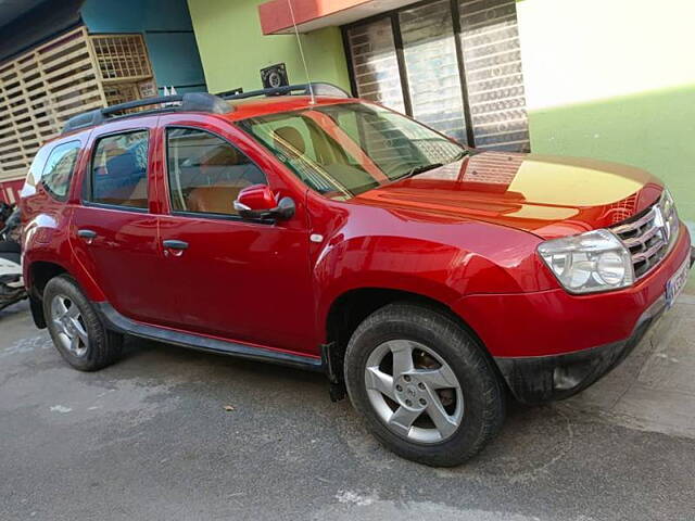
[[[90,33],[142,33],[160,90],[206,90],[186,0],[87,0],[81,16]]]

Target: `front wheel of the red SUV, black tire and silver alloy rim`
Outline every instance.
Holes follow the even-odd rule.
[[[408,348],[414,370],[396,371],[407,364],[403,353]],[[504,385],[491,358],[452,318],[426,306],[390,304],[367,317],[350,339],[344,372],[350,399],[368,429],[406,459],[437,467],[460,465],[478,454],[504,422]],[[394,379],[394,373],[401,377]],[[393,397],[387,399],[382,389]],[[418,408],[412,427],[403,427]]]

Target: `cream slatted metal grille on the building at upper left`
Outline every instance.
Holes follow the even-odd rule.
[[[141,35],[89,36],[86,27],[0,64],[0,177],[23,178],[39,147],[72,116],[140,98],[114,81],[151,77]]]

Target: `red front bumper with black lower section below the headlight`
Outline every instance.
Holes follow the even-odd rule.
[[[695,259],[682,227],[671,253],[632,288],[585,296],[564,290],[471,295],[455,306],[479,334],[513,394],[538,404],[569,397],[619,365],[666,309],[666,284]]]

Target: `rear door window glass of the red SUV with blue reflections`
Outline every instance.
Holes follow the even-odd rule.
[[[148,131],[106,136],[97,141],[91,162],[94,203],[148,207]]]

